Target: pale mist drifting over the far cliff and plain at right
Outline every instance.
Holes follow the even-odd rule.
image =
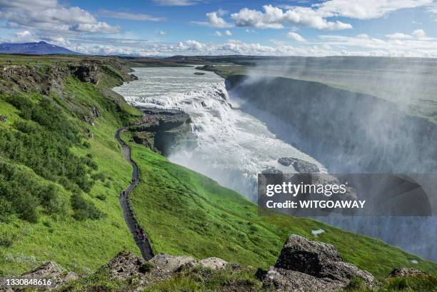
[[[286,60],[286,59],[284,59]],[[260,62],[228,80],[230,100],[278,139],[331,173],[437,173],[435,62],[424,59],[291,58]],[[431,105],[431,106],[430,106]],[[326,217],[434,261],[433,217]],[[414,203],[412,198],[411,203]]]

